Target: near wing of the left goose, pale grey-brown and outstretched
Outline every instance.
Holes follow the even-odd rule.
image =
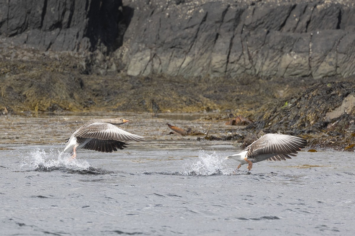
[[[110,123],[91,123],[80,127],[73,134],[80,138],[93,138],[102,140],[116,140],[116,141],[144,141],[146,138],[132,134]]]

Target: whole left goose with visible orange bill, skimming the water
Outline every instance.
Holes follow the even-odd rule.
[[[63,152],[72,152],[74,159],[77,148],[113,152],[127,148],[125,141],[144,141],[145,137],[129,133],[115,126],[127,122],[129,120],[122,118],[90,120],[72,134]]]

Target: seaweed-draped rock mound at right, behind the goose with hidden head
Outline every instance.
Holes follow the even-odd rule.
[[[308,146],[354,150],[355,107],[349,104],[339,116],[330,112],[341,108],[344,99],[355,96],[351,82],[318,83],[304,92],[274,102],[257,110],[254,123],[246,129],[254,132],[285,133],[308,140]]]

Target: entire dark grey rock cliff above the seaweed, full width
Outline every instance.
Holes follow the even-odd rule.
[[[98,49],[129,75],[355,74],[352,0],[0,0],[0,38]]]

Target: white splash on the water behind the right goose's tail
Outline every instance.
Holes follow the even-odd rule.
[[[209,176],[214,174],[232,174],[233,166],[227,166],[225,156],[219,156],[216,151],[198,152],[198,160],[185,165],[185,172],[182,175]]]

